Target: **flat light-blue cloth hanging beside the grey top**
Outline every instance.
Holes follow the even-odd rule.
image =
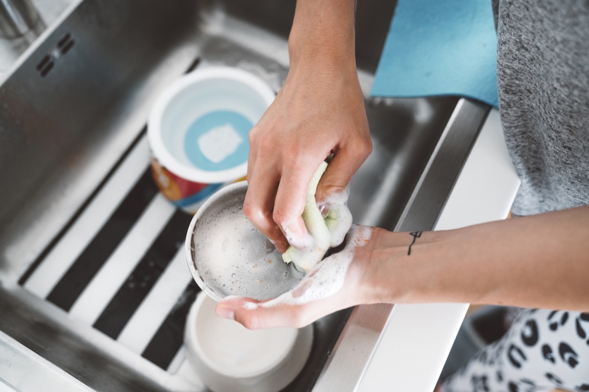
[[[498,106],[490,0],[399,0],[373,96],[459,95]]]

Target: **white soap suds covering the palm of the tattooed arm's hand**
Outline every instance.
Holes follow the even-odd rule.
[[[247,302],[243,306],[253,310],[258,306],[302,305],[332,296],[342,289],[356,249],[364,246],[371,236],[371,227],[353,225],[346,246],[317,264],[292,290],[266,302]]]

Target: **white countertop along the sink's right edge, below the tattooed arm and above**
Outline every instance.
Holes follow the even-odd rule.
[[[492,110],[456,180],[435,230],[505,219],[519,178]],[[431,392],[468,304],[395,305],[358,391]]]

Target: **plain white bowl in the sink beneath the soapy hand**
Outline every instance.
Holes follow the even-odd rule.
[[[214,313],[199,293],[186,320],[188,361],[213,392],[276,392],[300,373],[313,343],[313,326],[249,330]]]

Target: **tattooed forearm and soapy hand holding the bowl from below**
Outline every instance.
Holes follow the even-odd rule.
[[[234,297],[216,311],[249,328],[301,327],[368,303],[588,311],[588,226],[589,206],[439,232],[352,226],[344,250],[317,264],[290,292],[261,303]],[[339,283],[332,285],[333,279]]]

